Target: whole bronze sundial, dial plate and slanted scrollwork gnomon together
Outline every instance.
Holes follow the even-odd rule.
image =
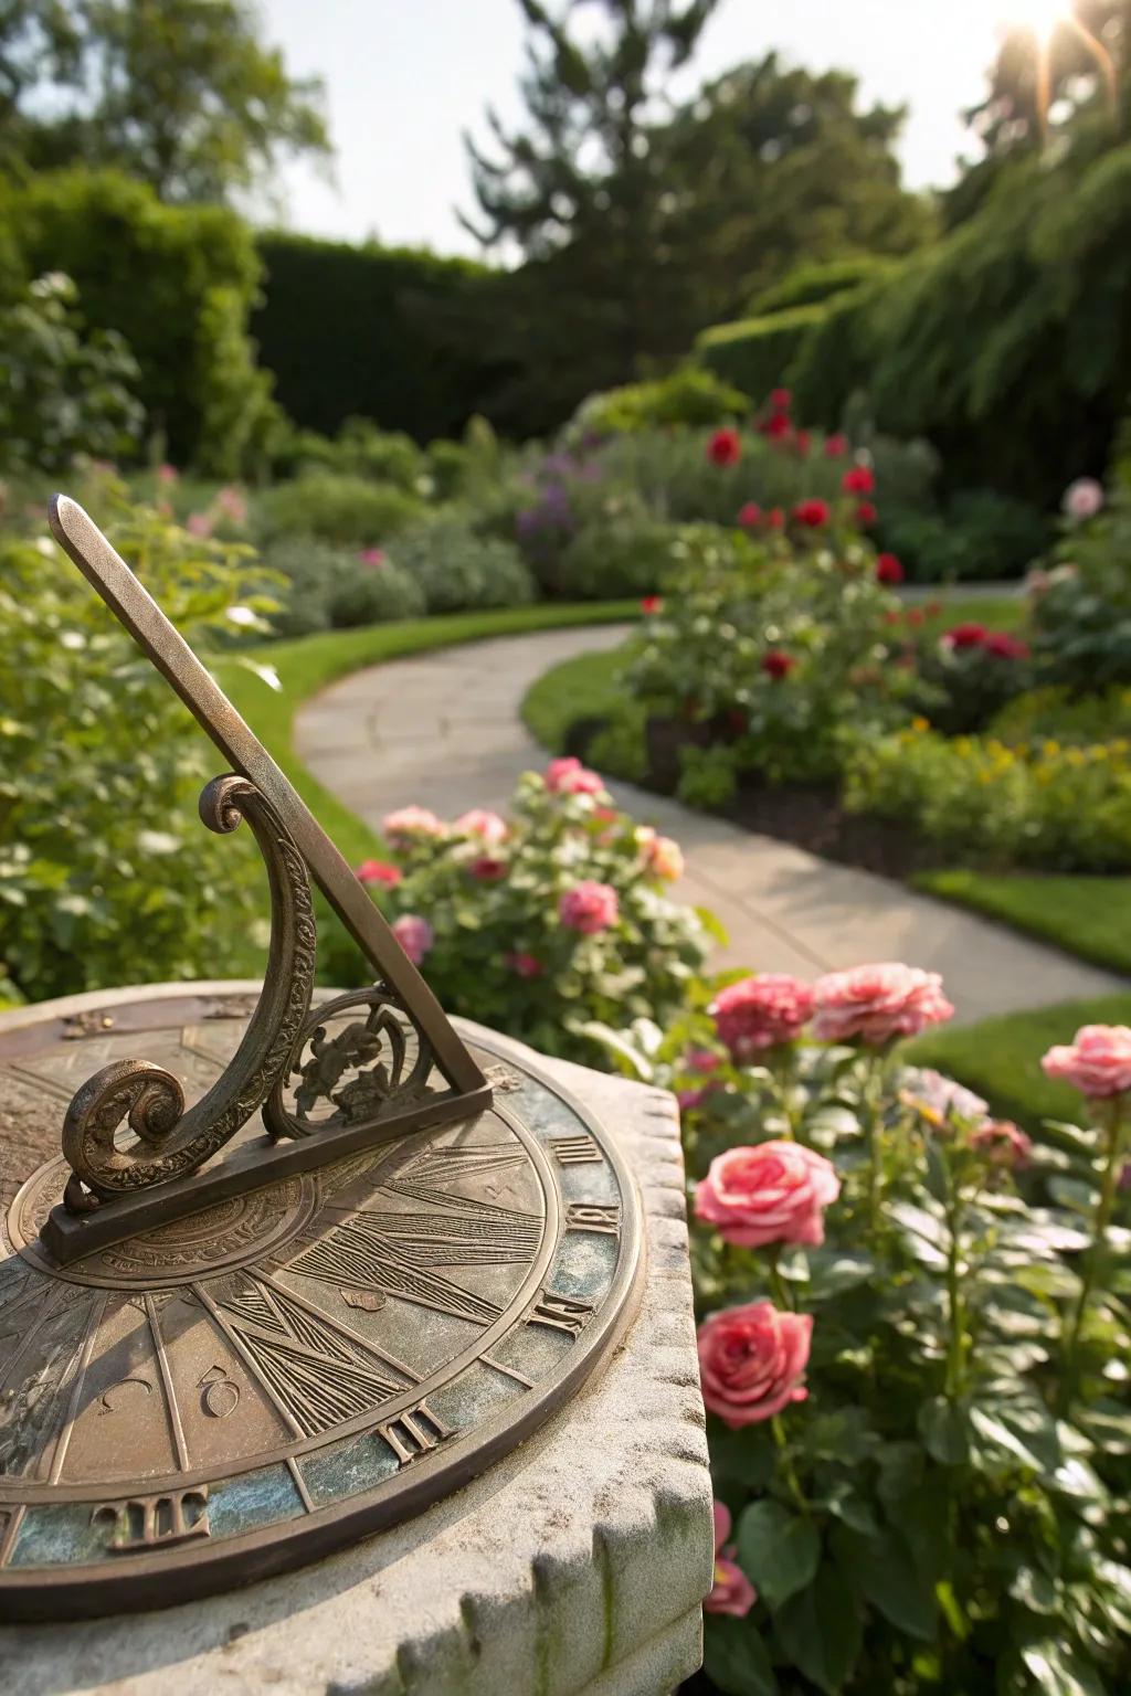
[[[5,1620],[227,1589],[456,1489],[619,1335],[641,1240],[609,1133],[444,1018],[107,539],[51,524],[231,762],[202,817],[254,831],[271,951],[258,997],[0,1021]],[[310,877],[371,987],[315,996]]]

